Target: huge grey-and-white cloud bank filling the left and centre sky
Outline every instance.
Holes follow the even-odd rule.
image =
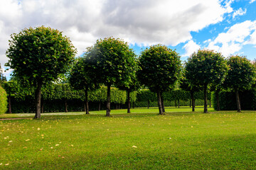
[[[223,15],[233,11],[232,2],[222,5],[219,0],[0,1],[0,62],[3,65],[7,61],[4,54],[9,35],[30,26],[63,31],[79,53],[95,40],[108,36],[137,45],[177,45],[191,40],[191,31],[223,21]]]

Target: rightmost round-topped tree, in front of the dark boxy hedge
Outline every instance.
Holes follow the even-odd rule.
[[[239,91],[249,89],[255,83],[255,67],[246,57],[238,55],[228,58],[228,76],[224,81],[226,88],[235,91],[238,112],[241,112]]]

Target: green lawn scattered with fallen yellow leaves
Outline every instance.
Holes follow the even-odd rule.
[[[0,169],[256,169],[256,112],[202,110],[0,120]]]

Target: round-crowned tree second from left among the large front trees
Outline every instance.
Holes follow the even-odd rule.
[[[99,82],[107,86],[106,116],[110,116],[110,87],[117,83],[129,87],[134,65],[134,51],[119,38],[97,40],[87,52],[88,61],[95,69]]]

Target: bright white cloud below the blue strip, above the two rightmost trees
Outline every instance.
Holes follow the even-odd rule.
[[[210,41],[208,48],[222,52],[224,56],[239,52],[243,45],[256,45],[256,21],[244,21],[230,27],[226,33],[220,33]],[[247,40],[249,39],[249,40]]]

